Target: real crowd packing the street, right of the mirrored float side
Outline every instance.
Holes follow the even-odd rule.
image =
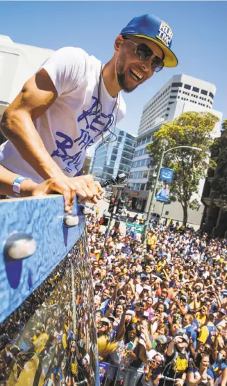
[[[87,218],[102,385],[225,386],[227,241],[173,222],[146,245],[116,227],[105,240],[99,222]]]

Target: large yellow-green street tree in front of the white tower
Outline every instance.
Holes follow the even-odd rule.
[[[194,146],[202,150],[176,149],[167,153],[163,161],[163,166],[175,172],[169,202],[177,200],[182,205],[183,225],[187,223],[188,208],[199,206],[197,200],[192,200],[192,195],[198,193],[199,181],[205,177],[208,168],[207,151],[212,144],[210,134],[217,121],[217,116],[208,112],[185,112],[174,121],[164,123],[153,134],[153,142],[147,146],[152,168],[158,167],[163,150],[176,146]],[[215,161],[210,160],[209,167],[215,166]],[[153,184],[152,176],[150,183]]]

